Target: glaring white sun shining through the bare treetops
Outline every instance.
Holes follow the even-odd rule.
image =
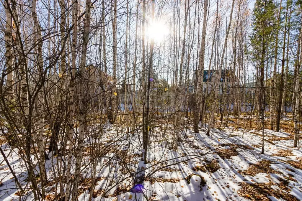
[[[146,36],[154,39],[154,42],[161,42],[169,34],[166,24],[160,20],[154,21],[146,28]]]

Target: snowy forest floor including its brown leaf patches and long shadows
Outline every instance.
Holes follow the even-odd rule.
[[[149,163],[144,164],[137,134],[127,138],[125,128],[120,128],[117,137],[115,127],[106,130],[101,144],[110,146],[99,157],[92,200],[302,200],[302,151],[292,147],[292,133],[265,130],[265,152],[260,154],[259,130],[224,127],[206,136],[205,130],[193,133],[189,127],[175,151],[169,149],[173,126],[168,125],[164,136],[159,127],[153,127]],[[18,151],[6,144],[2,149],[23,184],[26,171]],[[86,146],[84,150],[79,200],[88,200],[90,194],[92,171],[89,150]],[[19,200],[14,178],[2,156],[0,160],[0,200]],[[56,156],[47,160],[45,200],[54,200],[57,182],[51,164],[57,160]],[[137,183],[143,184],[143,192],[131,190]],[[21,196],[21,200],[31,199],[30,192]]]

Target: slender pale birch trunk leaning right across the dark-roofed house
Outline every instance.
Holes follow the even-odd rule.
[[[234,10],[234,3],[235,3],[235,0],[233,0],[233,2],[232,2],[230,21],[229,21],[229,25],[228,25],[228,28],[227,28],[227,31],[226,31],[226,37],[225,37],[225,40],[224,40],[223,51],[222,51],[221,61],[220,61],[220,68],[219,68],[219,73],[217,75],[217,83],[216,83],[215,90],[214,90],[215,95],[214,95],[214,100],[212,102],[212,109],[211,109],[211,114],[210,114],[210,123],[209,123],[209,127],[208,127],[208,130],[207,130],[207,135],[210,135],[210,130],[212,129],[213,124],[214,124],[215,103],[216,103],[218,93],[219,93],[219,83],[220,83],[221,71],[222,71],[222,66],[223,66],[223,58],[224,58],[224,54],[225,54],[225,51],[226,51],[227,38],[229,36],[230,28],[231,28],[231,24],[232,24],[232,15],[233,15],[233,10]]]

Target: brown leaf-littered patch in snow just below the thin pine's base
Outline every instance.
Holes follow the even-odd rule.
[[[278,174],[279,172],[278,171],[275,171],[274,169],[270,168],[269,166],[271,165],[271,161],[269,160],[262,160],[262,161],[259,161],[258,163],[256,164],[251,164],[249,166],[249,168],[247,168],[247,170],[239,170],[238,172],[240,174],[247,174],[247,175],[250,175],[252,177],[254,177],[257,173],[275,173],[275,174]]]

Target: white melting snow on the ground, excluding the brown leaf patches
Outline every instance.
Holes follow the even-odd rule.
[[[108,132],[105,140],[114,140],[114,129],[108,126],[108,130],[113,132]],[[149,160],[148,164],[144,164],[141,161],[142,150],[138,149],[138,138],[137,136],[130,136],[130,149],[126,143],[117,144],[119,151],[127,152],[130,155],[129,163],[123,164],[120,160],[115,159],[117,156],[114,152],[108,153],[108,155],[101,157],[99,163],[96,166],[97,177],[104,177],[97,181],[95,186],[95,191],[108,190],[108,196],[101,197],[97,196],[92,198],[94,201],[109,201],[109,200],[144,200],[142,193],[132,193],[126,192],[124,190],[120,192],[120,195],[116,195],[116,187],[110,190],[110,185],[115,185],[119,182],[120,178],[132,175],[130,179],[126,180],[124,184],[130,189],[136,179],[143,177],[153,177],[155,180],[153,182],[143,181],[142,184],[146,189],[146,196],[152,198],[153,200],[164,200],[164,201],[195,201],[195,200],[247,200],[244,197],[240,197],[237,193],[241,189],[240,182],[246,182],[248,184],[264,184],[273,182],[271,188],[274,190],[282,190],[277,185],[280,183],[278,178],[287,180],[287,178],[292,178],[288,182],[288,189],[290,194],[296,198],[302,197],[302,170],[294,168],[292,165],[288,164],[288,161],[299,162],[299,157],[302,156],[301,150],[289,148],[292,146],[293,139],[288,140],[277,140],[273,141],[274,144],[270,142],[265,142],[265,154],[260,155],[261,150],[261,135],[255,134],[256,130],[251,130],[249,132],[242,132],[232,130],[231,128],[226,128],[223,131],[215,130],[212,132],[212,136],[206,136],[205,133],[190,133],[188,130],[188,143],[181,143],[178,149],[172,150],[167,149],[169,146],[169,141],[164,141],[159,143],[153,141],[150,145],[147,158]],[[234,137],[229,137],[233,135]],[[236,135],[236,136],[235,136]],[[272,137],[292,137],[292,135],[283,132],[273,132],[270,130],[265,130],[265,139]],[[220,149],[233,149],[230,144],[236,144],[236,155],[224,156],[222,159],[217,152],[211,151],[217,149],[217,147],[222,146]],[[163,144],[163,146],[161,145]],[[223,145],[226,146],[223,146]],[[167,145],[167,146],[165,146]],[[260,147],[258,147],[258,145]],[[250,147],[251,149],[246,149]],[[2,146],[5,150],[5,154],[9,154],[9,146]],[[290,149],[293,156],[278,156],[278,151],[283,149]],[[208,153],[207,153],[208,152]],[[206,155],[204,155],[207,153]],[[226,152],[227,153],[227,152]],[[280,153],[280,152],[279,152]],[[135,155],[135,157],[134,157]],[[56,156],[52,156],[53,161],[56,162]],[[115,160],[111,160],[115,159]],[[64,157],[63,157],[64,158]],[[0,160],[3,157],[0,156]],[[19,160],[17,150],[11,152],[8,160],[14,165],[15,171],[19,174],[22,173],[26,176],[24,164]],[[220,166],[214,172],[210,172],[211,164],[210,161],[217,161]],[[240,171],[246,171],[252,164],[257,165],[259,161],[268,160],[269,168],[276,171],[277,173],[267,172],[267,167],[258,167],[261,172],[257,173],[255,176],[242,175]],[[85,163],[89,162],[89,157],[85,157]],[[4,164],[4,163],[2,163]],[[52,175],[51,160],[47,160],[47,174]],[[127,165],[128,168],[125,168]],[[194,171],[193,168],[196,166],[205,167],[206,171],[197,170]],[[12,175],[7,169],[6,164],[0,166],[1,173],[0,176],[3,178],[3,185],[0,187],[1,200],[9,201],[11,199],[18,199],[16,196],[17,192],[15,188],[15,182],[10,179]],[[130,170],[130,173],[128,172]],[[82,177],[88,178],[91,176],[91,168],[85,169],[82,167]],[[152,174],[152,175],[150,175]],[[125,175],[125,176],[123,176]],[[191,177],[189,179],[189,176]],[[204,178],[205,184],[201,185],[202,178]],[[22,185],[25,177],[19,177]],[[172,180],[178,179],[178,180]],[[167,182],[168,181],[168,182]],[[172,182],[171,182],[172,181]],[[174,182],[175,181],[175,182]],[[82,189],[84,185],[80,184],[79,189]],[[50,189],[49,189],[50,190]],[[79,196],[79,200],[89,199],[89,190],[84,190],[84,192]],[[275,198],[269,196],[271,200],[284,200],[282,198]],[[33,200],[33,196],[29,193],[27,200]]]

